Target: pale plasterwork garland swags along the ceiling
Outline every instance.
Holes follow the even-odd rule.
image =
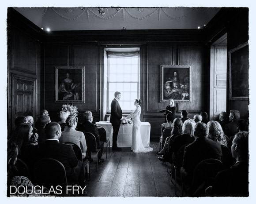
[[[59,13],[58,11],[56,11],[55,8],[53,8],[53,7],[51,7],[51,10],[53,10],[53,12],[55,12],[55,13],[56,13],[57,15],[59,15],[61,18],[64,18],[65,20],[68,20],[68,21],[74,21],[74,20],[80,18],[80,17],[84,14],[84,12],[87,12],[87,18],[88,18],[88,20],[89,20],[89,18],[90,18],[90,13],[92,13],[92,14],[93,14],[95,17],[97,17],[97,18],[100,18],[100,19],[103,19],[103,20],[109,20],[109,19],[111,19],[111,18],[116,17],[116,15],[119,14],[120,12],[121,12],[121,14],[123,15],[123,21],[125,20],[125,14],[124,14],[125,12],[127,12],[129,16],[131,16],[132,18],[135,18],[135,19],[137,19],[137,20],[145,20],[145,19],[147,19],[147,18],[150,18],[150,17],[151,17],[155,12],[157,12],[157,11],[158,11],[158,21],[160,21],[161,11],[162,11],[169,19],[171,19],[171,20],[183,20],[184,18],[187,17],[186,14],[184,14],[184,15],[182,15],[182,16],[170,16],[170,15],[164,10],[164,8],[156,8],[156,9],[155,9],[153,12],[151,12],[150,14],[147,14],[147,15],[142,16],[142,17],[138,17],[138,16],[133,15],[132,13],[130,13],[130,11],[128,11],[127,8],[118,8],[118,9],[116,9],[117,12],[115,12],[115,13],[112,14],[112,15],[109,15],[109,16],[105,17],[105,16],[101,16],[101,15],[95,13],[95,12],[94,12],[93,10],[91,10],[90,8],[84,7],[83,9],[81,9],[81,13],[80,13],[79,15],[76,15],[75,17],[72,17],[72,18],[69,18],[69,17],[67,17],[67,16],[64,16],[64,15],[60,14],[60,13]],[[44,10],[44,12],[43,12],[43,14],[42,14],[43,17],[45,17],[46,11],[47,11],[47,8],[45,8],[45,10]],[[65,10],[65,11],[66,11],[66,13],[72,13],[72,10],[71,10],[71,9]],[[67,12],[67,11],[68,11],[68,12]],[[145,10],[142,9],[142,8],[139,8],[139,10],[137,10],[137,11],[138,11],[139,13],[144,13]],[[105,13],[108,13],[108,12],[109,12],[108,9],[105,8]]]

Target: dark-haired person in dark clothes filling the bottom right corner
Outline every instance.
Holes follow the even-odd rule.
[[[231,146],[236,163],[230,168],[220,171],[212,186],[211,196],[248,197],[248,132],[238,132]]]

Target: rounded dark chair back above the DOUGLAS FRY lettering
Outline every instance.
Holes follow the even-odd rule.
[[[45,186],[67,186],[66,170],[58,160],[44,158],[37,161],[33,167],[33,184]]]

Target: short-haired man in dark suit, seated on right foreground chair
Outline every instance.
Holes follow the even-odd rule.
[[[221,144],[206,137],[208,127],[205,123],[195,126],[195,141],[184,149],[183,167],[181,172],[186,181],[192,182],[193,171],[196,165],[206,159],[222,160]]]

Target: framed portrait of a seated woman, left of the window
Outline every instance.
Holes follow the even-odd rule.
[[[84,66],[55,67],[55,102],[84,102]]]

